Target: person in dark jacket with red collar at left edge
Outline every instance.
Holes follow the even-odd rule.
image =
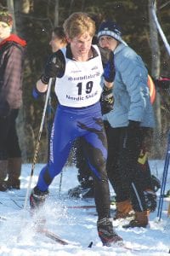
[[[11,33],[12,26],[12,16],[0,12],[0,191],[20,189],[21,152],[15,121],[22,103],[26,41]]]

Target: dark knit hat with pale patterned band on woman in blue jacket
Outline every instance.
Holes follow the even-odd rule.
[[[117,41],[126,44],[122,40],[122,32],[119,26],[115,22],[106,20],[99,26],[98,38],[101,36],[109,36],[115,38]]]

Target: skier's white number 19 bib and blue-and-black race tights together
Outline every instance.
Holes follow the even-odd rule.
[[[109,218],[107,141],[99,103],[103,67],[99,48],[92,46],[92,49],[93,57],[85,62],[72,59],[69,45],[54,54],[61,69],[55,83],[59,106],[51,131],[49,162],[40,172],[37,188],[48,190],[54,177],[65,166],[72,143],[81,137],[93,172],[94,200],[99,218]]]

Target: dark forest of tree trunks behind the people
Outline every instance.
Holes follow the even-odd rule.
[[[62,26],[73,12],[97,15],[99,20],[114,20],[122,28],[122,38],[141,55],[150,75],[170,77],[170,59],[157,32],[151,13],[153,0],[1,0],[0,10],[8,9],[14,17],[14,31],[27,42],[23,80],[23,105],[17,120],[23,162],[31,162],[37,144],[45,99],[34,100],[32,88],[41,76],[44,63],[51,54],[49,41],[54,26]],[[154,1],[162,30],[170,41],[170,1]],[[156,128],[150,143],[150,158],[162,159],[167,149],[170,130],[170,90],[156,88],[154,110]],[[56,100],[51,92],[38,151],[39,162],[48,158],[49,125],[54,118]],[[74,152],[74,150],[72,150]],[[68,163],[74,159],[71,154]]]

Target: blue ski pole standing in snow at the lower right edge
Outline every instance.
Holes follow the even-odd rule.
[[[160,200],[159,200],[158,212],[157,212],[157,217],[158,217],[159,221],[161,220],[161,211],[162,211],[162,206],[163,206],[165,187],[166,187],[166,183],[167,183],[167,172],[168,172],[169,160],[170,160],[170,131],[169,131],[168,138],[167,138],[167,154],[166,154],[165,165],[164,165],[164,170],[163,170],[163,175],[162,175],[161,194],[160,194]]]

